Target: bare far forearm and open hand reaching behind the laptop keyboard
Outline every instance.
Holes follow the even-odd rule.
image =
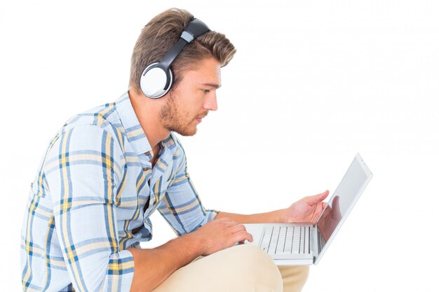
[[[311,222],[316,223],[318,216],[325,208],[323,200],[327,197],[329,192],[320,193],[309,197],[304,197],[292,204],[287,209],[280,209],[267,213],[260,214],[233,214],[226,212],[219,212],[216,218],[228,217],[238,223],[288,223],[288,222]]]

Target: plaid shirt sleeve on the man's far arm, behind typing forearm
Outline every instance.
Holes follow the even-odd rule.
[[[174,155],[177,169],[173,181],[166,190],[165,197],[158,206],[158,211],[168,221],[177,235],[195,231],[205,223],[212,221],[219,213],[206,210],[187,172],[186,155],[180,143]]]

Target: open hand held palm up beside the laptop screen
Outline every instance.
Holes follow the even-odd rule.
[[[325,209],[326,203],[322,202],[325,200],[329,190],[325,190],[323,193],[318,195],[312,195],[309,197],[304,197],[292,204],[285,213],[286,222],[295,223],[316,223],[318,216]]]

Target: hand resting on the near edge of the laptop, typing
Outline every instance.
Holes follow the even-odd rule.
[[[232,221],[230,218],[212,220],[198,230],[191,233],[201,242],[203,256],[227,249],[236,244],[243,243],[245,239],[253,242],[253,237],[245,230],[245,226]]]

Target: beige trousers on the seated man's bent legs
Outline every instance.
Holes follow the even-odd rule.
[[[308,272],[308,266],[277,267],[262,249],[243,244],[196,258],[153,292],[299,292]]]

